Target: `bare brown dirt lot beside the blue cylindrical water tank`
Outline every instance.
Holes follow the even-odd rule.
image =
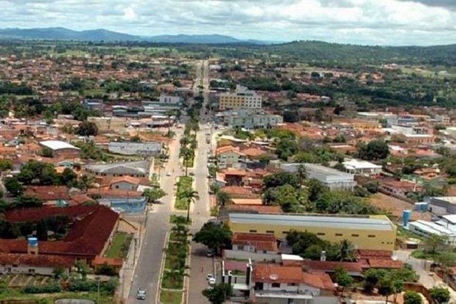
[[[372,205],[385,209],[398,220],[402,219],[402,211],[405,209],[413,210],[413,205],[407,203],[406,201],[400,200],[398,198],[383,194],[383,193],[376,193],[369,198],[369,203]],[[431,220],[431,213],[429,212],[416,212],[412,211],[411,216],[412,221],[416,220]]]

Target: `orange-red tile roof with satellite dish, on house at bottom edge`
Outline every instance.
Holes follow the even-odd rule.
[[[264,283],[301,283],[325,290],[335,290],[334,283],[325,272],[304,272],[301,267],[277,264],[256,264],[253,281]]]

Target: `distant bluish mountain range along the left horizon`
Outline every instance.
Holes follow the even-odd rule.
[[[39,40],[76,40],[76,41],[147,41],[157,43],[186,43],[186,44],[233,44],[250,43],[256,45],[272,44],[273,42],[259,40],[241,40],[226,35],[158,35],[137,36],[113,32],[103,29],[89,31],[73,31],[65,28],[35,28],[35,29],[0,29],[0,39],[39,39]]]

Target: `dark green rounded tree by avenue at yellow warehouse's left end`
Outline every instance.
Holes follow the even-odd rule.
[[[213,249],[217,254],[231,246],[232,232],[227,224],[207,222],[195,233],[193,240]]]

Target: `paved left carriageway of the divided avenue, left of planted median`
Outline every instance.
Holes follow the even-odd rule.
[[[164,241],[170,228],[168,219],[174,195],[174,178],[179,174],[179,139],[181,135],[181,130],[177,129],[176,139],[170,144],[169,160],[161,172],[160,184],[167,195],[162,198],[163,204],[154,205],[154,210],[149,211],[147,214],[146,231],[144,240],[141,240],[142,246],[133,281],[131,282],[128,304],[145,303],[144,301],[136,300],[135,296],[138,288],[146,288],[147,303],[155,303],[157,297]],[[172,176],[166,176],[167,172],[171,172]]]

